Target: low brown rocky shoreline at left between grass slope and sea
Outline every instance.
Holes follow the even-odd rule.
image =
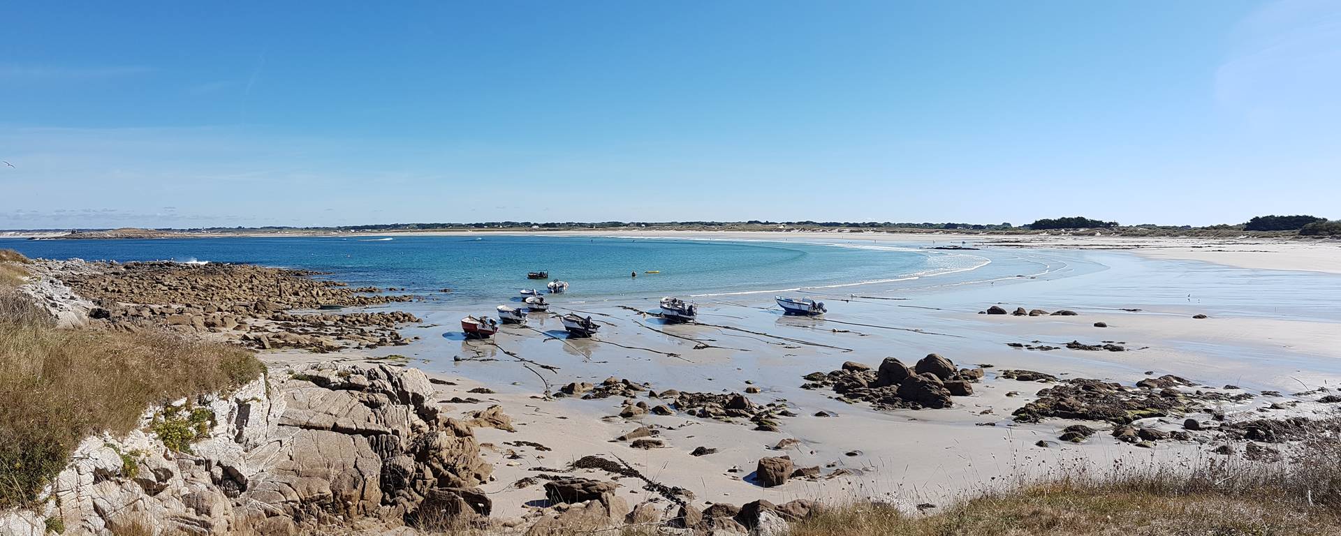
[[[291,312],[339,310],[414,300],[377,288],[349,288],[320,273],[249,264],[94,263],[39,260],[31,264],[46,291],[34,292],[66,316],[115,330],[166,326],[174,331],[248,347],[341,348],[404,346],[398,327],[414,315],[385,312]],[[78,297],[76,297],[78,296]],[[80,315],[82,312],[82,315]],[[74,323],[74,320],[71,320]]]

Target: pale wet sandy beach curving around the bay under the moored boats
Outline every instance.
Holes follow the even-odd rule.
[[[618,236],[809,241],[827,237],[803,233]],[[1195,387],[1181,387],[1189,394],[1222,398],[1251,394],[1246,401],[1207,402],[1208,407],[1227,413],[1231,421],[1257,418],[1263,411],[1285,417],[1322,415],[1332,410],[1329,405],[1313,402],[1316,395],[1290,393],[1336,387],[1341,382],[1341,354],[1336,351],[1341,347],[1341,330],[1336,328],[1341,311],[1336,306],[1310,307],[1309,300],[1318,295],[1302,303],[1306,314],[1297,308],[1273,312],[1262,306],[1285,306],[1309,292],[1338,295],[1338,279],[1326,272],[1341,265],[1341,249],[1294,243],[1243,247],[1271,248],[1270,255],[1259,255],[1222,245],[1204,248],[1192,241],[1100,243],[1092,237],[1039,239],[1038,244],[1010,247],[995,245],[996,239],[991,237],[874,234],[870,240],[902,244],[916,240],[913,245],[964,241],[966,247],[983,248],[971,253],[986,252],[992,259],[1039,257],[1046,259],[1039,261],[1050,268],[1035,277],[956,283],[931,291],[909,292],[897,283],[803,291],[829,303],[830,314],[821,319],[782,316],[768,293],[699,297],[704,315],[699,326],[666,326],[637,312],[654,310],[656,302],[650,297],[555,307],[554,312],[591,315],[602,324],[597,338],[585,340],[563,340],[557,320],[543,315],[531,315],[528,328],[507,327],[488,342],[463,340],[453,335],[453,323],[467,310],[409,304],[408,311],[422,318],[424,324],[402,332],[420,336],[421,342],[385,351],[345,352],[338,358],[361,360],[404,355],[409,366],[449,382],[440,386],[444,401],[452,397],[481,401],[448,403],[449,410],[465,414],[491,403],[502,405],[514,418],[516,431],[481,429],[479,434],[480,441],[488,444],[485,457],[496,468],[496,480],[487,490],[503,515],[523,513],[528,508],[526,504],[536,497],[536,488],[516,488],[514,482],[534,476],[536,468],[563,468],[583,456],[626,461],[657,482],[691,490],[703,504],[758,497],[775,503],[877,497],[908,508],[944,503],[984,486],[1065,468],[1104,469],[1117,460],[1188,465],[1211,456],[1210,448],[1196,441],[1136,448],[1110,438],[1113,426],[1102,423],[1090,441],[1058,442],[1063,427],[1096,423],[1061,418],[1014,422],[1011,413],[1037,399],[1037,393],[1051,385],[999,377],[999,371],[1010,368],[1126,386],[1171,374],[1193,382]],[[1184,256],[1204,259],[1181,260]],[[1281,263],[1298,263],[1309,268],[1305,272],[1324,273],[1270,269]],[[1081,264],[1096,267],[1081,275],[1069,273]],[[1266,281],[1262,280],[1265,275],[1285,279]],[[1235,285],[1203,284],[1226,276],[1262,280],[1261,293],[1244,296]],[[1136,284],[1141,285],[1140,291],[1133,289]],[[1316,291],[1306,291],[1310,287]],[[1006,310],[1066,308],[1077,315],[980,314],[994,304]],[[1210,318],[1192,318],[1199,314]],[[1096,322],[1108,327],[1094,327]],[[1038,342],[1062,348],[1037,351],[1007,346]],[[1067,342],[1116,342],[1126,351],[1070,350],[1065,348]],[[959,367],[990,367],[982,383],[974,385],[972,395],[955,397],[953,407],[940,410],[880,411],[866,403],[841,402],[831,391],[799,389],[805,383],[802,375],[827,373],[843,362],[877,367],[884,358],[896,356],[912,364],[931,352],[949,358]],[[296,352],[266,356],[278,368],[331,359],[330,355]],[[526,367],[519,358],[554,368]],[[748,387],[758,387],[759,393],[750,395],[752,401],[786,403],[795,417],[779,419],[779,431],[758,431],[742,422],[679,413],[618,417],[624,397],[585,401],[543,395],[570,382],[599,385],[606,378],[646,382],[649,391],[746,393]],[[476,387],[496,393],[471,394]],[[646,395],[629,401],[665,402]],[[1265,410],[1273,405],[1289,409]],[[1181,429],[1187,417],[1211,418],[1202,411],[1139,419],[1134,425],[1173,431]],[[634,449],[629,441],[616,440],[640,426],[656,430],[661,445]],[[776,449],[784,440],[797,442]],[[1039,441],[1047,446],[1038,446]],[[717,452],[689,454],[700,446]],[[821,476],[778,488],[759,486],[752,477],[755,462],[782,454],[790,456],[797,466],[819,468]],[[609,477],[590,469],[578,470],[578,474]],[[630,503],[650,493],[638,482],[621,481],[628,486]]]

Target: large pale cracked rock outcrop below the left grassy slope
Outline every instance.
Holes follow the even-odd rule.
[[[60,519],[67,533],[291,535],[351,519],[488,515],[477,486],[492,468],[433,393],[413,368],[318,366],[178,401],[170,407],[212,415],[202,438],[170,450],[154,431],[177,413],[164,409],[125,438],[90,437],[28,517]],[[23,533],[23,515],[3,517],[0,535]]]

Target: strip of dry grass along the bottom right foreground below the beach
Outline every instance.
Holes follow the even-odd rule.
[[[1071,473],[909,515],[854,504],[795,524],[789,536],[1341,535],[1341,421],[1282,461],[1216,458]]]

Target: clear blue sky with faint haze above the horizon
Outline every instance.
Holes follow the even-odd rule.
[[[1341,3],[5,3],[0,228],[1341,217]]]

